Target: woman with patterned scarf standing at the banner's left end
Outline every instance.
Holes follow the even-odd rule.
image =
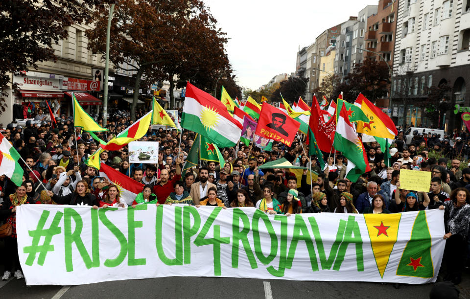
[[[5,236],[5,253],[3,254],[5,260],[5,272],[1,277],[1,280],[10,279],[11,273],[14,272],[16,279],[22,279],[23,272],[21,271],[20,259],[18,257],[18,240],[16,236],[16,207],[25,204],[34,204],[32,198],[26,194],[26,183],[16,187],[16,192],[10,194],[8,199],[3,201],[0,207],[0,217],[5,219],[4,225],[11,227],[11,235]],[[50,192],[50,191],[49,191]],[[13,268],[14,267],[14,268]]]

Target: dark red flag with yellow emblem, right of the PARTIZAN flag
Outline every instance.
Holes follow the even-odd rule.
[[[334,133],[336,131],[335,117],[331,117],[328,122],[325,122],[315,95],[313,96],[310,113],[312,115],[308,126],[312,130],[320,150],[329,153],[333,148]]]

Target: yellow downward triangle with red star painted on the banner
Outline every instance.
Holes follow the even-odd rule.
[[[372,252],[382,278],[393,246],[397,242],[400,219],[401,214],[364,214]]]

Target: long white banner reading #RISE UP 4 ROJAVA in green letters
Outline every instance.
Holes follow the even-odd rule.
[[[443,216],[22,205],[16,217],[26,284],[74,285],[162,276],[434,282]]]

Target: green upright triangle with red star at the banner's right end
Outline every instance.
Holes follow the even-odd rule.
[[[431,234],[427,226],[426,213],[420,211],[411,230],[411,238],[401,255],[397,275],[423,278],[434,276],[431,245]]]

